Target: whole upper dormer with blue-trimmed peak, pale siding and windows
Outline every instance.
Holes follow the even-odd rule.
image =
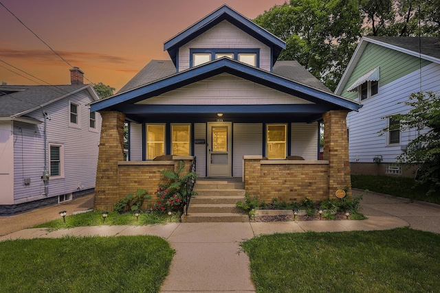
[[[232,58],[272,72],[285,42],[223,5],[164,43],[177,72]]]

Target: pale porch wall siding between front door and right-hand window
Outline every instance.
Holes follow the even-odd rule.
[[[243,156],[263,154],[263,124],[234,123],[232,175],[243,176]]]

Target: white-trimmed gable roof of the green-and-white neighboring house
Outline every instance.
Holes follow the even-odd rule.
[[[335,93],[340,95],[347,85],[349,78],[358,64],[366,46],[369,43],[380,45],[388,49],[393,49],[410,56],[415,56],[430,62],[440,64],[440,38],[436,37],[403,37],[403,36],[364,36],[355,53],[351,56],[351,60],[344,75],[336,87]]]

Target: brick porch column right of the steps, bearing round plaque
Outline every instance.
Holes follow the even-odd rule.
[[[330,199],[336,198],[338,189],[344,189],[351,198],[347,113],[347,110],[330,110],[322,115],[325,126],[322,159],[329,161]]]

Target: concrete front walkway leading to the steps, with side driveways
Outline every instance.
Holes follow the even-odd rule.
[[[360,192],[360,191],[355,191]],[[367,220],[246,222],[246,223],[171,223],[150,226],[91,226],[47,231],[44,228],[23,229],[25,222],[58,218],[58,210],[88,209],[93,197],[83,198],[78,207],[62,204],[22,215],[0,217],[0,241],[34,237],[157,235],[164,237],[177,251],[162,292],[255,292],[249,270],[249,259],[239,253],[240,242],[256,235],[284,232],[338,232],[383,230],[410,226],[440,233],[440,206],[369,193],[362,200],[362,213]],[[43,212],[41,217],[39,213]],[[53,214],[53,216],[52,216]],[[52,219],[50,219],[52,220]],[[46,220],[45,220],[46,221]],[[43,222],[45,222],[43,221]],[[38,224],[38,223],[35,223]],[[5,225],[10,225],[8,228]],[[30,224],[29,226],[34,225]],[[14,228],[14,227],[16,228]],[[5,233],[4,231],[13,231]],[[4,235],[6,234],[6,235]]]

